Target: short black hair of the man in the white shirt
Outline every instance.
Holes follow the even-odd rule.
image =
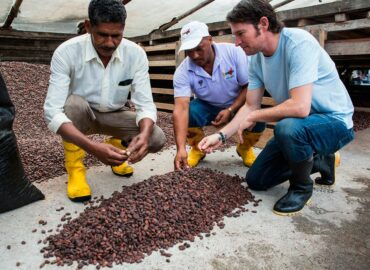
[[[91,25],[99,23],[125,24],[126,17],[126,9],[121,0],[91,0],[89,4]]]

